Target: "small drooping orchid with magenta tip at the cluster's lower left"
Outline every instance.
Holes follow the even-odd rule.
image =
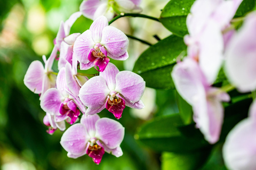
[[[49,129],[46,130],[47,133],[53,134],[57,129],[60,129],[61,131],[64,131],[66,129],[65,125],[65,116],[59,115],[51,115],[49,113],[46,113],[44,116],[44,124],[46,126],[49,126]]]

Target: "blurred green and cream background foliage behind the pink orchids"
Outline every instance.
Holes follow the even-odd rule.
[[[168,2],[142,0],[142,13],[159,18]],[[151,69],[155,69],[158,64],[165,68],[165,72],[161,69],[158,72],[146,72],[143,64],[135,64],[133,71],[145,75],[145,80],[148,77],[147,86],[157,90],[147,88],[142,97],[146,107],[142,110],[126,107],[122,118],[118,120],[125,127],[121,144],[124,155],[116,158],[105,154],[100,165],[95,165],[86,155],[77,159],[68,158],[59,143],[63,132],[57,130],[53,135],[46,133],[47,128],[43,124],[45,113],[39,105],[39,96],[24,85],[23,78],[32,61],[42,62],[42,55],[49,57],[60,21],[67,20],[78,11],[81,3],[82,0],[0,0],[1,169],[226,169],[221,155],[223,142],[230,129],[247,116],[251,96],[246,94],[242,96],[245,100],[242,100],[241,95],[233,91],[233,103],[236,105],[226,105],[227,123],[223,125],[223,137],[216,145],[210,146],[199,130],[195,129],[191,107],[175,90],[170,89],[173,87],[171,81],[166,83],[171,79],[170,69],[175,64],[173,58],[186,47],[181,38],[171,36],[172,33],[161,23],[147,19],[121,18],[112,24],[151,44],[158,42],[154,38],[156,33],[160,39],[164,39],[147,51],[147,45],[130,39],[129,59],[124,62],[111,60],[119,70],[132,70],[141,55],[138,61],[148,63]],[[186,8],[185,13],[188,11]],[[164,11],[161,16],[167,15]],[[91,20],[81,16],[71,28],[71,33],[82,33],[89,29],[91,23]],[[162,57],[154,64],[147,62],[148,54],[166,43],[177,46],[167,52],[163,50],[163,55],[169,58]],[[179,51],[176,50],[178,48]],[[53,70],[58,71],[57,62],[54,62]],[[95,70],[86,73],[95,73]],[[151,82],[154,75],[159,73],[168,79],[158,84]],[[237,111],[242,114],[235,114],[234,117],[233,113]],[[113,114],[106,109],[99,115],[114,119]]]

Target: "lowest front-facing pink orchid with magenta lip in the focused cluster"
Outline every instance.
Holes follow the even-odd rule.
[[[124,138],[124,127],[110,118],[97,114],[83,115],[81,123],[72,125],[61,137],[60,144],[68,151],[68,157],[78,158],[89,155],[95,164],[100,164],[105,151],[119,157]]]

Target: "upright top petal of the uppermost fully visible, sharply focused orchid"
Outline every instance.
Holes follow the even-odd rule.
[[[108,19],[106,16],[99,16],[91,24],[90,31],[92,32],[92,39],[95,43],[100,43],[103,28],[108,26]]]

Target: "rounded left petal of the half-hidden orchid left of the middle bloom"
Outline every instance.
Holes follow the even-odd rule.
[[[40,106],[47,113],[58,114],[62,101],[64,101],[64,98],[61,96],[60,91],[51,88],[43,95]]]

